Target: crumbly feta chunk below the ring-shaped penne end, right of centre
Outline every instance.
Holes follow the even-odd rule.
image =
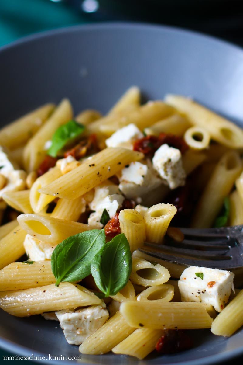
[[[164,144],[155,152],[152,162],[154,169],[170,189],[185,185],[186,174],[179,149]]]

